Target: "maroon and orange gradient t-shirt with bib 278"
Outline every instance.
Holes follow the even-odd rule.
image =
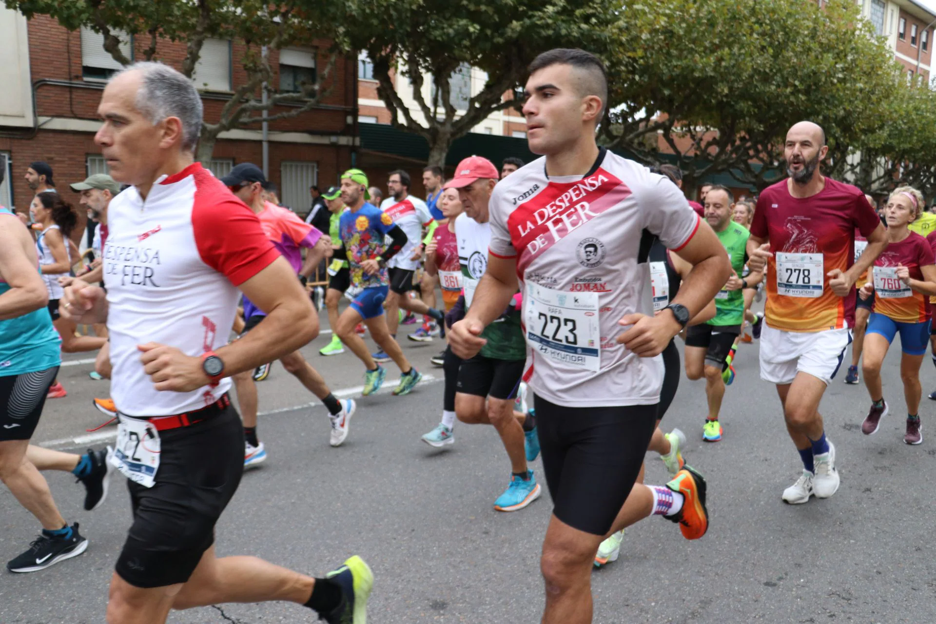
[[[826,178],[811,197],[790,195],[787,181],[757,198],[751,234],[770,243],[766,320],[785,331],[823,331],[855,325],[855,292],[837,297],[828,272],[855,263],[855,230],[868,237],[881,223],[864,194]],[[780,268],[781,270],[778,270]]]

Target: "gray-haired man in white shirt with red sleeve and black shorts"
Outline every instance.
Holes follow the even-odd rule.
[[[214,552],[214,525],[243,472],[229,377],[313,340],[309,298],[256,215],[193,162],[202,106],[191,80],[167,65],[130,65],[97,112],[95,142],[114,180],[131,186],[110,202],[107,293],[77,279],[61,307],[110,329],[121,421],[113,464],[129,480],[134,521],[107,621],[163,624],[171,609],[281,600],[331,624],[362,623],[373,575],[358,557],[312,578]],[[267,317],[227,344],[239,289]]]

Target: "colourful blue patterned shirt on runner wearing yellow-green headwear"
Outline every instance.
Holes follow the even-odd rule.
[[[381,268],[373,275],[364,273],[360,263],[373,260],[387,249],[384,237],[393,229],[393,219],[383,210],[365,203],[357,211],[345,210],[338,231],[348,256],[351,279],[363,288],[387,285],[387,269]]]

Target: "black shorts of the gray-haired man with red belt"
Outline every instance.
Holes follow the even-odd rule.
[[[127,480],[133,525],[116,571],[136,588],[185,583],[214,543],[214,524],[241,483],[243,427],[233,406],[160,431],[153,487]]]

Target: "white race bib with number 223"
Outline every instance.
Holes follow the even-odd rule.
[[[601,335],[597,293],[564,293],[528,283],[523,303],[532,349],[554,362],[598,372]]]

